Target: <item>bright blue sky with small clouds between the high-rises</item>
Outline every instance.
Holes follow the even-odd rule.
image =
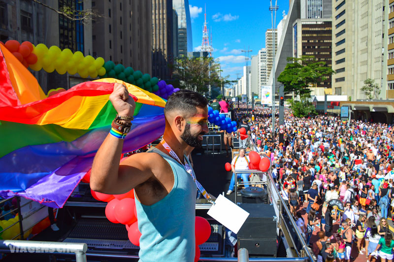
[[[272,1],[275,4],[275,0]],[[276,25],[282,19],[283,11],[288,13],[289,0],[278,0],[277,4]],[[265,31],[272,27],[270,1],[189,0],[194,49],[198,49],[202,42],[204,5],[208,30],[212,28],[213,56],[221,61],[222,75],[230,75],[230,80],[235,80],[237,72],[242,76],[242,66],[245,66],[245,53],[240,50],[248,47],[253,50],[249,53],[250,65],[250,57],[265,47]]]

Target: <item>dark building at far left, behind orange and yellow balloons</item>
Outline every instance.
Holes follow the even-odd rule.
[[[76,10],[92,7],[92,0],[43,0],[50,8],[58,10],[68,5]],[[0,1],[0,41],[30,41],[34,45],[43,43],[71,51],[81,51],[85,56],[92,54],[92,23],[71,21],[34,1],[10,0]],[[44,70],[32,72],[42,90],[70,88],[75,84],[74,76],[60,75],[56,71],[47,73]]]

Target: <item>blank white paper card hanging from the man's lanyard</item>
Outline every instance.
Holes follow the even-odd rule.
[[[249,213],[231,202],[223,195],[215,200],[215,204],[207,212],[213,219],[234,233],[238,233]]]

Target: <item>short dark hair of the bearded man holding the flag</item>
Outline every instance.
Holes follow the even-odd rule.
[[[206,98],[201,94],[190,90],[179,90],[173,93],[164,107],[164,115],[171,111],[185,112],[185,117],[189,117],[196,112],[196,107],[206,107]]]

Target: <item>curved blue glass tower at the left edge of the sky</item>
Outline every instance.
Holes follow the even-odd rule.
[[[172,7],[178,14],[178,57],[187,57],[188,52],[193,52],[189,0],[172,0]]]

